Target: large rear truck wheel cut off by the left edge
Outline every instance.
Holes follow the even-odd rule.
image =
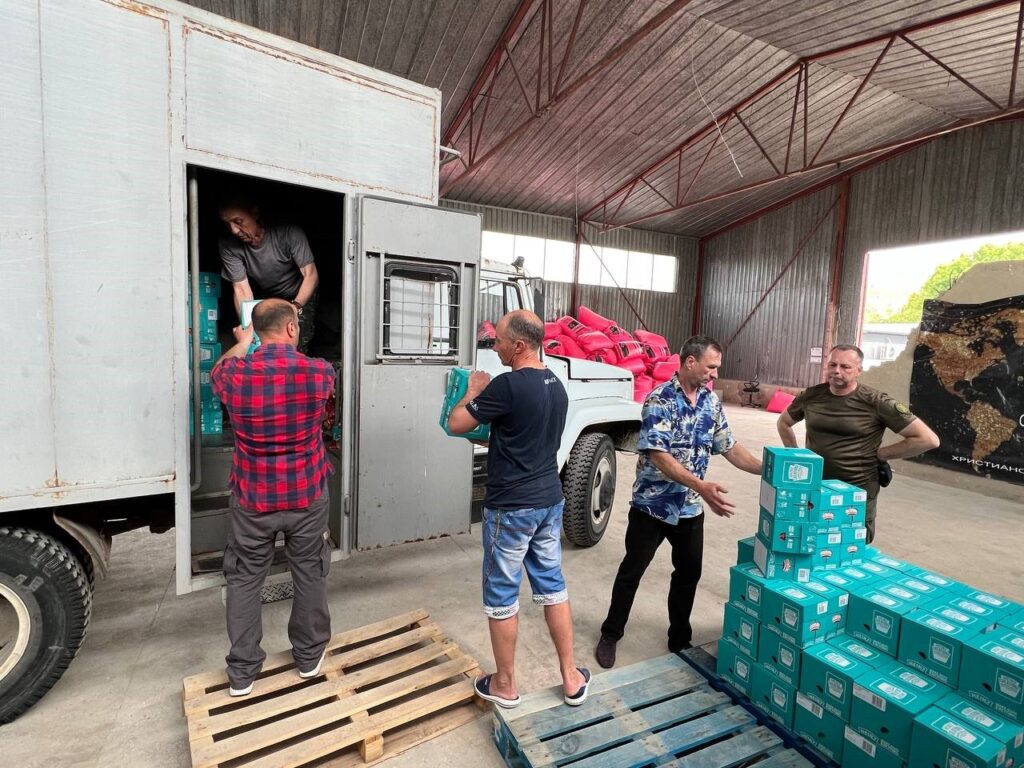
[[[0,724],[60,679],[85,639],[91,608],[85,568],[65,545],[0,527]]]

